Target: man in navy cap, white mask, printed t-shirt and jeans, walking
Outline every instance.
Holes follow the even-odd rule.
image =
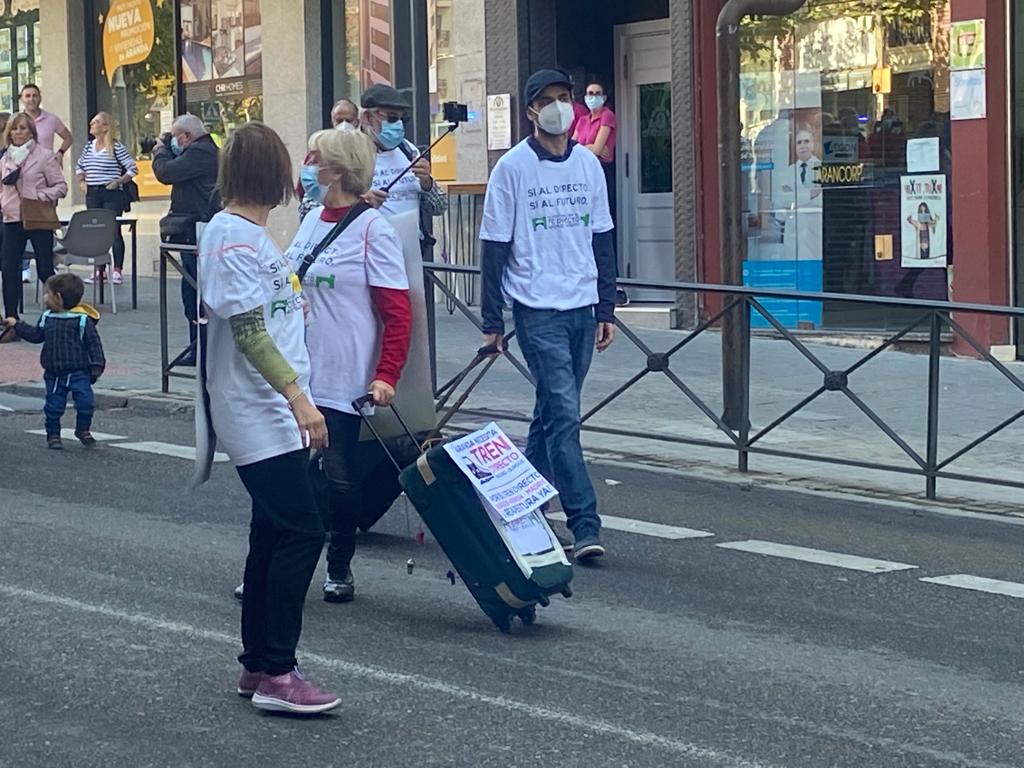
[[[580,395],[594,348],[615,336],[615,250],[600,161],[570,141],[572,84],[558,70],[526,81],[534,135],[495,166],[480,228],[483,342],[503,344],[502,309],[537,382],[526,457],[561,497],[577,561],[604,554],[597,496],[580,444]]]

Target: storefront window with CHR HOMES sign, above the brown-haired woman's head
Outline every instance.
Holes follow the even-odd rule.
[[[185,109],[218,143],[263,119],[260,0],[180,0]]]

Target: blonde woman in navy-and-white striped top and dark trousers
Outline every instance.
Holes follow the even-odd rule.
[[[121,185],[138,174],[138,166],[125,145],[115,138],[115,130],[116,124],[110,115],[105,112],[96,114],[89,122],[89,133],[93,139],[86,141],[75,174],[85,193],[86,208],[105,208],[120,216],[128,207],[127,196]],[[124,263],[125,241],[118,226],[114,229],[114,274],[111,275],[111,282],[116,286],[121,285]]]

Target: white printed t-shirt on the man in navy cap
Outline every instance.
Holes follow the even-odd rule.
[[[511,243],[502,291],[534,309],[597,304],[593,236],[613,228],[601,161],[582,144],[541,160],[528,139],[498,161],[487,181],[480,239]]]

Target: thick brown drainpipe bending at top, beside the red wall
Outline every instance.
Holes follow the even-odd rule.
[[[722,228],[722,283],[743,284],[742,178],[739,168],[739,23],[744,16],[784,16],[798,11],[806,0],[728,0],[718,16],[718,161],[719,219]],[[726,297],[728,301],[730,297]],[[750,377],[749,312],[739,308],[722,317],[722,421],[745,433],[750,427],[748,391]]]

